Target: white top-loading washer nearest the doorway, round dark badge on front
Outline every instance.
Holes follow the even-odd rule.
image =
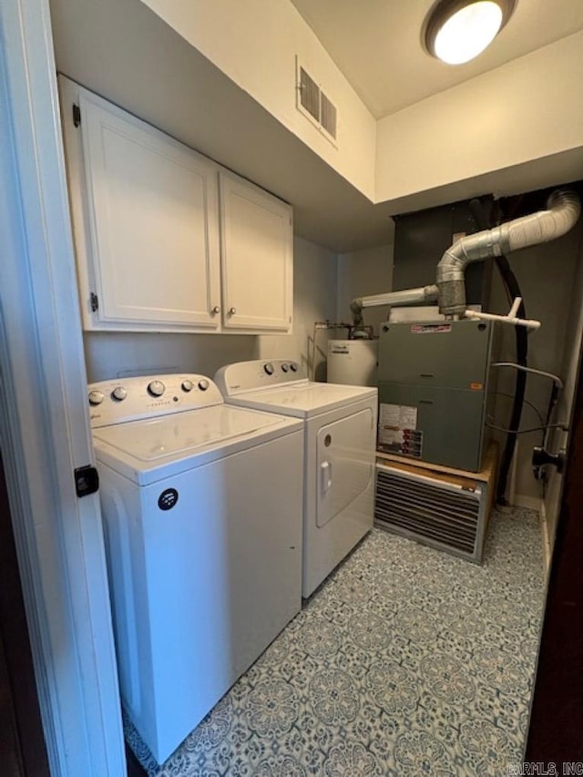
[[[121,695],[161,763],[302,606],[302,423],[192,374],[89,402]]]

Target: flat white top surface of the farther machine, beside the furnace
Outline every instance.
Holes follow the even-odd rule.
[[[261,389],[226,397],[225,401],[242,407],[254,407],[271,413],[310,418],[312,415],[335,410],[345,404],[376,396],[368,386],[345,386],[335,383],[301,383],[297,386]]]

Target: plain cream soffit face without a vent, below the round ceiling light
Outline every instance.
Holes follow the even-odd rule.
[[[381,119],[376,201],[580,148],[582,68],[579,32]],[[452,191],[449,199],[471,194]]]

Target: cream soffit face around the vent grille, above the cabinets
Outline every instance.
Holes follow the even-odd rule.
[[[333,169],[373,199],[373,115],[292,3],[142,2]],[[296,55],[338,108],[338,148],[296,109]]]

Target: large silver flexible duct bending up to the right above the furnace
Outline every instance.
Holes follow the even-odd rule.
[[[556,240],[575,226],[580,212],[581,204],[574,191],[557,190],[547,199],[547,210],[457,240],[437,265],[440,312],[464,313],[465,268],[470,262]]]

